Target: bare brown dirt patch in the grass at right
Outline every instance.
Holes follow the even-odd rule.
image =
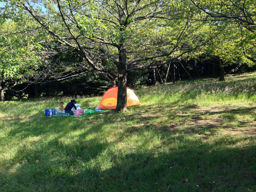
[[[222,105],[222,106],[220,106]],[[246,112],[256,112],[256,106],[240,104],[216,104],[215,106],[202,106],[190,109],[190,113],[177,113],[180,117],[190,116],[190,120],[185,120],[173,124],[167,124],[162,128],[164,132],[176,133],[180,130],[184,132],[196,133],[200,136],[200,130],[205,134],[219,132],[222,134],[246,134],[246,136],[256,136],[256,122],[248,120],[236,120],[236,116],[245,116]],[[236,115],[237,114],[237,115]],[[231,116],[231,119],[225,118]],[[233,118],[232,118],[233,117]],[[234,122],[237,122],[234,126]]]

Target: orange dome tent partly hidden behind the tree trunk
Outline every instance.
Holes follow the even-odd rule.
[[[116,109],[117,104],[117,90],[118,86],[109,88],[107,92],[104,93],[103,98],[100,101],[99,106],[96,109]],[[134,93],[134,91],[127,87],[127,102],[126,106],[136,106],[140,105],[140,100]]]

